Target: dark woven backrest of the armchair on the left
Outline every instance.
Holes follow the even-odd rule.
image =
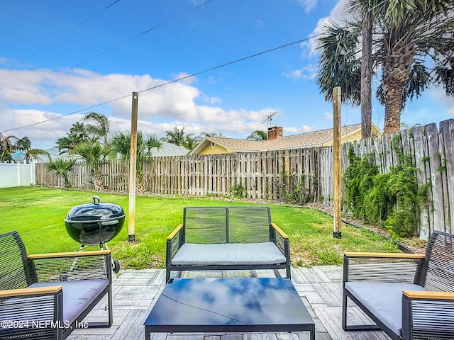
[[[32,283],[27,253],[18,232],[0,235],[0,290],[27,288]]]

